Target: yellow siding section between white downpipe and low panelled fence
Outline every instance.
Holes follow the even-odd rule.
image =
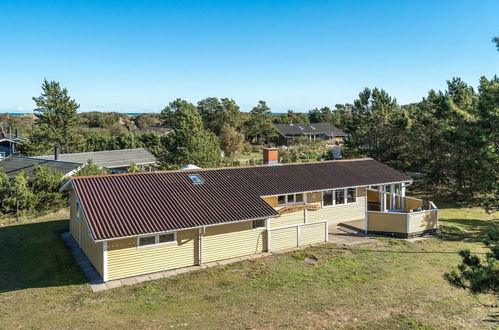
[[[203,262],[211,262],[264,250],[265,229],[252,229],[251,221],[207,227],[202,238]]]

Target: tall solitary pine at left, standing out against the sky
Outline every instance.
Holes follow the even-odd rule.
[[[33,100],[36,119],[28,132],[29,141],[22,147],[24,152],[42,154],[54,146],[59,146],[63,153],[78,151],[83,142],[77,131],[80,118],[76,111],[80,106],[70,98],[67,89],[45,79],[42,94]]]

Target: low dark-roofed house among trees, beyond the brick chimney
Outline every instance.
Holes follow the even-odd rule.
[[[291,139],[308,137],[312,141],[318,139],[329,143],[338,142],[342,144],[348,135],[329,123],[314,124],[274,124],[279,137],[275,140],[278,145],[286,145]]]

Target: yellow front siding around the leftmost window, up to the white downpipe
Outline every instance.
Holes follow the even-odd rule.
[[[177,232],[177,242],[137,248],[137,238],[109,241],[108,280],[148,274],[198,263],[197,230]]]

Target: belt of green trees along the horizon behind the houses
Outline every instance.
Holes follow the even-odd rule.
[[[251,145],[271,144],[277,136],[274,122],[329,122],[349,135],[343,148],[346,158],[372,157],[399,170],[419,172],[429,183],[445,185],[463,199],[497,205],[498,94],[497,77],[482,77],[477,90],[453,78],[446,90],[430,90],[414,104],[399,105],[383,89],[366,88],[352,104],[279,115],[265,101],[245,113],[229,98],[206,98],[197,104],[176,99],[157,118],[173,128],[168,134],[125,131],[100,136],[79,132],[79,105],[57,82],[45,80],[42,94],[33,98],[36,119],[21,151],[47,153],[54,145],[62,152],[145,147],[163,169],[186,164],[217,167],[222,154],[231,158]],[[287,158],[297,159],[291,153]]]

